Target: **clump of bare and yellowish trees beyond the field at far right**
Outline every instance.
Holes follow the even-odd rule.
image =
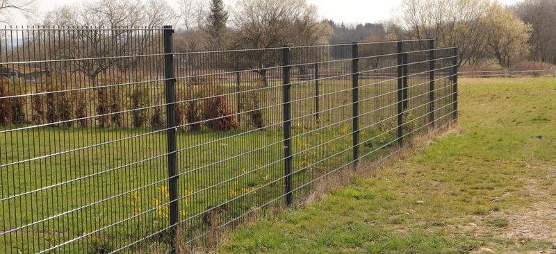
[[[404,0],[393,38],[435,38],[438,46],[458,46],[461,65],[503,68],[524,60],[556,63],[556,2],[524,0],[502,6],[493,0]]]

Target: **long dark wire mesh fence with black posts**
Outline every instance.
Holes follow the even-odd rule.
[[[3,253],[207,241],[457,119],[457,49],[433,40],[174,52],[170,26],[0,33]]]

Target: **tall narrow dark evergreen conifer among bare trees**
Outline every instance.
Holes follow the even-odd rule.
[[[208,35],[213,49],[222,48],[222,42],[226,33],[226,22],[228,22],[228,12],[224,10],[222,0],[211,0],[211,15],[208,16]]]

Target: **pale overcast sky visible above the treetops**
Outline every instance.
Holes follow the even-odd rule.
[[[83,0],[37,0],[41,13],[54,10],[65,4],[79,4]],[[126,0],[122,0],[126,1]],[[172,0],[169,0],[170,2]],[[392,10],[398,8],[402,0],[307,0],[319,7],[320,15],[335,22],[346,24],[381,22],[390,19]],[[503,4],[516,3],[519,0],[498,0]],[[224,0],[231,4],[233,0]],[[39,19],[40,20],[40,19]],[[25,23],[19,20],[19,24]]]

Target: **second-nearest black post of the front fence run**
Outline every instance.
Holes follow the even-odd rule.
[[[286,182],[286,205],[292,203],[291,193],[291,49],[282,49],[282,102],[284,107],[284,180]]]

